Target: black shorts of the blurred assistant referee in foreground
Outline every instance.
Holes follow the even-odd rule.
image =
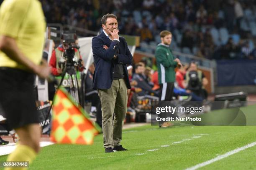
[[[0,107],[10,128],[39,123],[34,74],[20,69],[0,67]]]

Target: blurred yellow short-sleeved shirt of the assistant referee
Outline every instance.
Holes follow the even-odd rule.
[[[0,35],[16,40],[19,50],[39,64],[44,46],[46,23],[38,0],[4,0],[0,7]],[[26,70],[0,51],[0,67]]]

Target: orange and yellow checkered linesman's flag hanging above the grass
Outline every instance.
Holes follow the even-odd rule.
[[[84,109],[75,103],[64,88],[57,90],[53,104],[51,141],[92,145],[100,127],[92,123]]]

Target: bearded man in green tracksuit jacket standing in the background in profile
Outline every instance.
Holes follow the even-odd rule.
[[[160,85],[160,100],[170,101],[173,96],[175,81],[175,67],[181,67],[182,64],[178,58],[174,59],[170,44],[172,42],[172,33],[164,30],[160,32],[161,43],[156,47],[156,65],[158,68],[158,80]],[[163,126],[163,122],[159,122]]]

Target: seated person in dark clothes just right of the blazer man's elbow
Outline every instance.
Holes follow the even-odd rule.
[[[136,64],[135,65],[135,74],[133,74],[133,80],[137,82],[137,85],[135,87],[139,87],[142,89],[141,92],[138,92],[138,95],[158,95],[155,90],[152,90],[152,87],[146,82],[146,80],[143,78],[143,65]]]

